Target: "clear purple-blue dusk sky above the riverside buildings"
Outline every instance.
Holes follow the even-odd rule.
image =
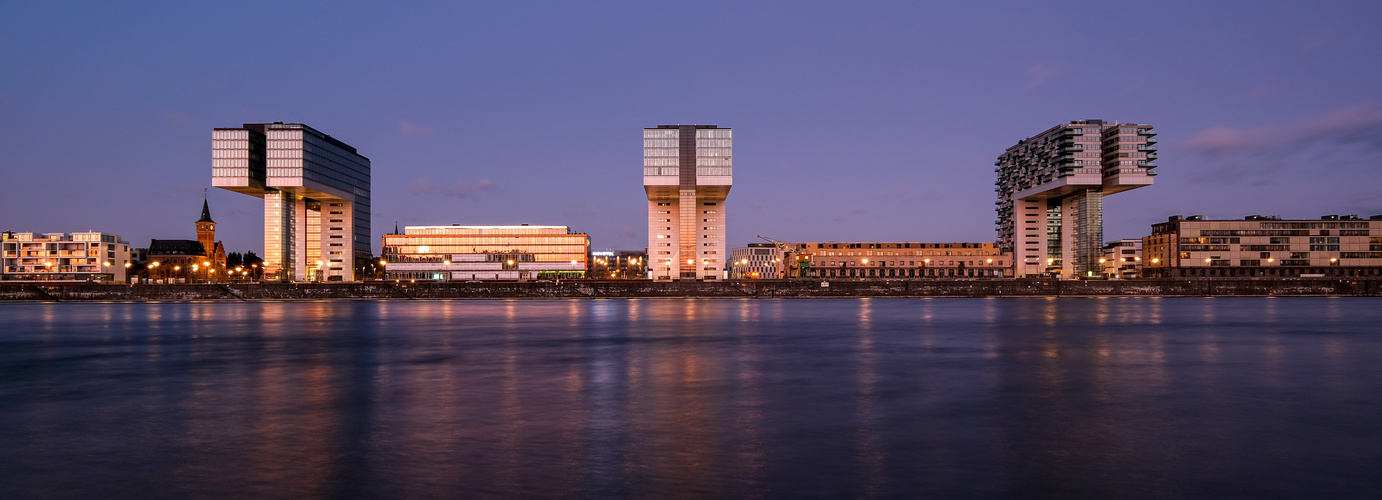
[[[643,127],[735,130],[735,246],[990,242],[994,159],[1151,123],[1172,214],[1382,214],[1382,3],[21,1],[0,15],[0,229],[191,239],[213,127],[300,122],[394,221],[560,224],[643,249]],[[229,251],[261,203],[210,191]]]

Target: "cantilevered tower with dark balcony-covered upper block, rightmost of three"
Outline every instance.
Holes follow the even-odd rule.
[[[998,239],[1016,276],[1103,272],[1106,195],[1151,185],[1157,135],[1148,124],[1075,120],[998,157]]]

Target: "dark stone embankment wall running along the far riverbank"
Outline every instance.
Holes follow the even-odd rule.
[[[850,280],[691,282],[564,280],[561,283],[229,283],[97,285],[0,283],[0,301],[256,301],[438,298],[644,298],[644,297],[1265,297],[1382,296],[1382,279],[1129,279],[1061,282]]]

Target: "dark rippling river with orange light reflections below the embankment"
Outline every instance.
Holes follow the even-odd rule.
[[[127,483],[149,496],[376,497],[1379,486],[1382,312],[1365,298],[0,312],[6,497]]]

